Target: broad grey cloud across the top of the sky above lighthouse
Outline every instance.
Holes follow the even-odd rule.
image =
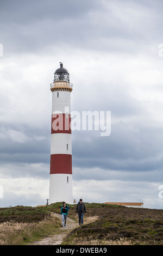
[[[139,52],[158,37],[161,7],[161,1],[2,1],[2,44],[7,54],[46,52],[54,44]]]

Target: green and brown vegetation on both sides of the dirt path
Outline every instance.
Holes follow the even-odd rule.
[[[20,245],[56,233],[60,220],[51,213],[60,213],[61,205],[59,202],[38,208],[0,208],[0,244]],[[64,245],[163,244],[163,210],[98,203],[85,205],[84,223],[87,218],[98,216],[98,219],[71,231]],[[68,206],[68,217],[77,221],[76,205]],[[18,237],[17,241],[15,237]]]

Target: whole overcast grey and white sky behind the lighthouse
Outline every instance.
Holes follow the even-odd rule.
[[[110,136],[72,132],[73,198],[162,209],[162,9],[161,0],[1,0],[0,207],[49,197],[49,84],[62,62],[71,111],[111,112]]]

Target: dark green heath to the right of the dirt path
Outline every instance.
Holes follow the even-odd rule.
[[[64,245],[163,244],[163,210],[106,204],[86,204],[86,209],[98,220],[73,230]]]

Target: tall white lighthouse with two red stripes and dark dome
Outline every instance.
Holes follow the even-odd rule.
[[[49,204],[73,203],[70,74],[60,62],[54,73],[52,91],[51,164]]]

